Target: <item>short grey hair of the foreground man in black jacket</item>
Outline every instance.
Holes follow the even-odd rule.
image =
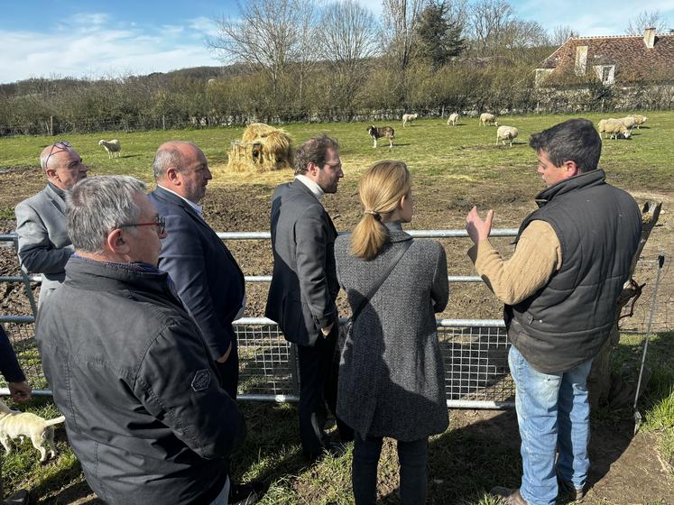
[[[80,180],[66,194],[68,234],[75,249],[103,253],[107,234],[138,219],[141,209],[134,197],[146,189],[143,182],[126,175]]]

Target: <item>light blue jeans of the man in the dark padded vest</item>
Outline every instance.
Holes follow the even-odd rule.
[[[586,483],[590,466],[586,382],[592,360],[568,372],[542,373],[534,370],[512,346],[508,363],[517,388],[515,407],[522,437],[520,493],[530,505],[554,505],[557,475],[576,489],[582,489]]]

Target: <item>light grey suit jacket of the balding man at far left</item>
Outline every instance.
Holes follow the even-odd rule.
[[[65,279],[74,249],[68,236],[66,204],[50,185],[14,208],[23,271],[42,273],[40,303]]]

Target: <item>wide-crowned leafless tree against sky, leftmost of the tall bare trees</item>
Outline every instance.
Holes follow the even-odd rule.
[[[313,60],[315,9],[311,0],[248,0],[236,6],[239,17],[216,20],[218,34],[208,46],[227,62],[243,61],[262,70],[277,90],[291,63],[300,81]]]

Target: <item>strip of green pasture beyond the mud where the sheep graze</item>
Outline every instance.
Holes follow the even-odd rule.
[[[585,115],[595,123],[606,115]],[[674,114],[649,112],[647,127],[635,130],[632,140],[606,140],[601,166],[610,180],[625,188],[674,188],[670,152],[674,146]],[[420,119],[402,128],[397,121],[375,122],[391,124],[396,130],[393,149],[372,148],[365,123],[288,124],[285,125],[297,144],[309,136],[325,132],[337,137],[341,144],[346,177],[360,173],[372,161],[397,158],[407,162],[413,173],[456,182],[457,187],[471,187],[485,181],[500,180],[503,187],[511,182],[535,178],[535,156],[527,142],[531,133],[559,123],[572,115],[503,116],[502,124],[520,129],[512,148],[496,145],[496,129],[482,127],[476,118],[462,117],[457,127],[448,127],[446,120]],[[205,130],[169,130],[150,132],[113,132],[63,135],[78,149],[92,174],[126,173],[139,179],[152,179],[152,156],[157,146],[171,139],[197,142],[206,153],[211,166],[222,168],[227,161],[230,142],[240,139],[242,128],[213,128]],[[97,142],[101,138],[118,138],[122,156],[108,160]],[[38,153],[60,137],[31,136],[0,138],[0,169],[10,166],[35,166]],[[287,179],[287,174],[284,175]],[[230,174],[227,183],[264,183],[269,176],[251,177]],[[273,179],[273,178],[272,178]]]

